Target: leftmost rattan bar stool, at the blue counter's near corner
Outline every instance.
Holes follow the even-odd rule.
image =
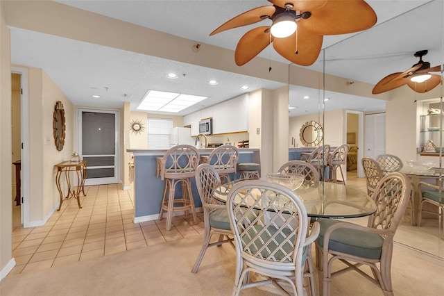
[[[160,179],[165,179],[165,190],[160,205],[159,220],[167,212],[167,230],[171,229],[173,212],[189,210],[193,213],[194,224],[197,224],[193,193],[191,192],[191,178],[194,178],[199,161],[199,151],[191,145],[178,145],[157,159]],[[176,186],[182,185],[182,197],[175,198]]]

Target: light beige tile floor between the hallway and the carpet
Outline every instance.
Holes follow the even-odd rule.
[[[198,224],[192,216],[173,217],[171,231],[166,219],[133,223],[133,190],[118,184],[86,186],[86,196],[63,202],[42,227],[12,230],[12,256],[16,266],[10,274],[43,270],[117,252],[180,240],[203,233],[203,215]]]

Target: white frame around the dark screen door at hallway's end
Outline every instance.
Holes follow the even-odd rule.
[[[101,184],[114,184],[120,182],[120,110],[104,109],[104,108],[76,108],[77,118],[77,145],[76,151],[83,156],[82,152],[82,113],[83,112],[95,112],[95,113],[112,113],[114,114],[114,144],[115,144],[115,156],[114,156],[114,178],[100,178],[100,179],[86,179],[85,186],[101,185]]]

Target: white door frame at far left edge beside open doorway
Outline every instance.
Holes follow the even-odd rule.
[[[21,220],[23,227],[29,225],[29,103],[28,103],[28,69],[23,67],[11,66],[11,74],[20,75],[20,88],[22,95],[20,96],[20,141],[22,142],[21,160]]]

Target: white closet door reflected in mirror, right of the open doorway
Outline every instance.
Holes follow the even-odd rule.
[[[386,152],[386,113],[366,115],[364,156],[375,159]]]

